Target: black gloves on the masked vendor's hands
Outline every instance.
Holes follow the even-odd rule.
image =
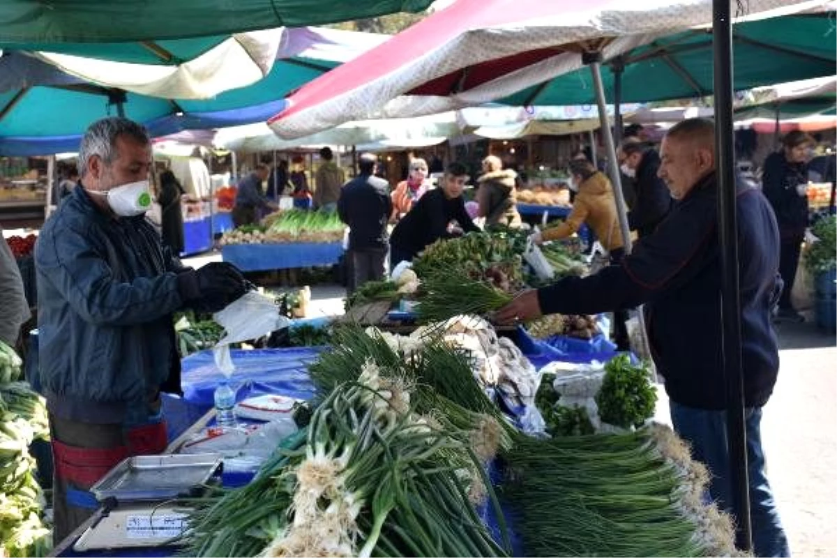
[[[238,268],[227,262],[206,264],[196,271],[177,275],[180,296],[185,303],[198,303],[200,310],[222,310],[250,287]]]

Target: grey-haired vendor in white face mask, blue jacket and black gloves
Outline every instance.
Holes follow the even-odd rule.
[[[161,392],[180,392],[172,313],[215,311],[244,294],[230,264],[185,268],[163,248],[151,206],[151,141],[99,120],[79,153],[80,187],[39,235],[38,380],[55,463],[54,539],[85,521],[90,486],[130,455],[161,453]]]

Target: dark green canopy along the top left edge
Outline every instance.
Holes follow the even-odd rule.
[[[431,0],[3,0],[0,34],[3,41],[18,44],[159,41],[416,13],[430,3]]]

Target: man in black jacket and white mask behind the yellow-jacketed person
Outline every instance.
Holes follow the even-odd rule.
[[[648,144],[632,137],[619,148],[619,168],[634,181],[636,197],[628,212],[629,227],[639,238],[646,237],[671,209],[669,189],[657,176],[660,156]]]

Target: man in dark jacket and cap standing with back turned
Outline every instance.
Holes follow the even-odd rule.
[[[389,183],[375,175],[377,157],[364,153],[358,158],[360,174],[346,183],[337,201],[337,213],[349,226],[348,292],[352,294],[367,281],[386,274],[389,234],[387,223],[393,212]]]

